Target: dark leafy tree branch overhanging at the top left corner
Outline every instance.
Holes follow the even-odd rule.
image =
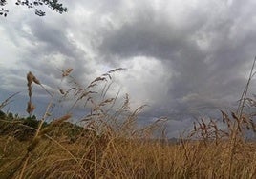
[[[51,10],[55,10],[60,14],[67,12],[68,9],[63,7],[61,3],[58,3],[58,0],[17,0],[15,3],[17,6],[27,6],[29,9],[34,9],[35,14],[38,16],[45,16],[45,12],[38,10],[40,6],[48,6]],[[7,0],[0,0],[0,6],[5,7],[7,5]],[[7,16],[9,10],[5,8],[0,9],[0,15]]]

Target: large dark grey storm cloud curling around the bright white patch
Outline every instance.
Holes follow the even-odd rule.
[[[99,49],[120,64],[136,56],[164,64],[171,79],[163,88],[169,90],[162,107],[152,104],[152,116],[173,116],[177,110],[180,117],[175,118],[180,119],[197,109],[221,109],[239,99],[254,57],[255,12],[248,4],[219,2],[220,6],[212,7],[219,7],[215,11],[188,10],[180,26],[169,21],[167,12],[157,13],[150,7],[134,11],[135,20],[106,33]]]

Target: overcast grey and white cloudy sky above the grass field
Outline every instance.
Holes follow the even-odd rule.
[[[48,90],[61,70],[87,86],[108,70],[120,100],[132,109],[148,105],[140,123],[168,117],[169,136],[191,128],[195,117],[218,116],[235,108],[245,88],[256,49],[254,0],[60,1],[68,8],[46,16],[12,0],[0,18],[0,101],[20,92],[6,109],[24,112],[28,71]],[[255,89],[251,82],[250,94]],[[34,87],[42,115],[49,95]],[[65,108],[65,107],[64,107]]]

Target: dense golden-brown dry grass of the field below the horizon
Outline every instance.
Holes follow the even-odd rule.
[[[20,176],[18,164],[26,155],[28,145],[1,137],[4,147],[1,149],[1,176]],[[255,147],[250,143],[237,147],[232,178],[255,178]],[[225,142],[218,146],[213,143],[204,146],[195,141],[162,147],[157,141],[106,139],[93,135],[75,143],[46,138],[32,150],[23,177],[228,178],[229,150]]]

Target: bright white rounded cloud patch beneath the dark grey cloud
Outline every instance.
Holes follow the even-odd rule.
[[[117,73],[117,84],[123,93],[131,95],[134,108],[144,104],[160,104],[168,95],[168,83],[172,72],[166,69],[160,60],[136,56],[126,59],[119,65],[127,70]]]

